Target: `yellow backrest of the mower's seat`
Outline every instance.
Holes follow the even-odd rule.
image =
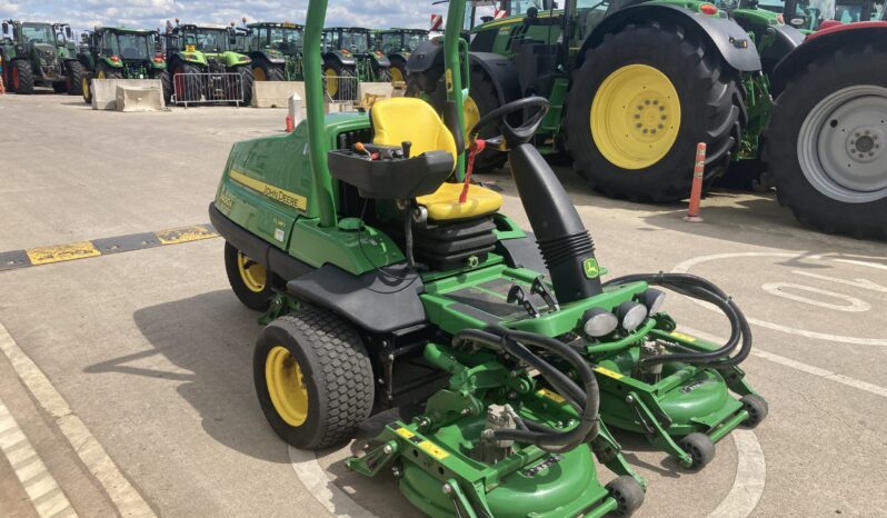
[[[456,140],[431,104],[412,97],[392,97],[376,101],[370,108],[372,143],[400,146],[410,141],[410,155],[447,151],[457,160]]]

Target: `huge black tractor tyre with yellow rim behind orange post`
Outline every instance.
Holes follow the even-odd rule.
[[[715,49],[665,22],[630,24],[588,51],[566,107],[574,168],[609,197],[674,201],[690,192],[696,145],[706,179],[729,163],[739,84]]]

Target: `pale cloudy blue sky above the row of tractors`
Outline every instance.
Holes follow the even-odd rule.
[[[74,29],[97,24],[162,28],[166,20],[230,23],[305,21],[308,0],[0,0],[0,19],[69,22]],[[327,26],[371,28],[429,26],[431,13],[446,13],[431,0],[329,0]]]

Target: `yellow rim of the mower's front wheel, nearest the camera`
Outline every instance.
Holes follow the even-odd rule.
[[[302,426],[308,418],[308,389],[299,362],[286,347],[275,346],[265,357],[265,382],[280,418],[289,426]]]

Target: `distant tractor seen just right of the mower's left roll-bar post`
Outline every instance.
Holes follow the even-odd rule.
[[[391,63],[376,49],[372,31],[360,27],[323,29],[323,78],[332,99],[357,96],[358,82],[390,82]],[[350,79],[357,78],[357,79]]]

